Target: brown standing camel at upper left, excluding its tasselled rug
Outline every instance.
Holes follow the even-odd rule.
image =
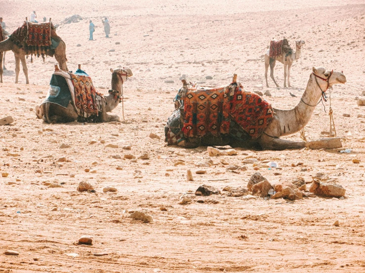
[[[53,55],[54,55],[54,58],[58,62],[60,68],[62,70],[68,71],[67,64],[66,64],[66,62],[67,62],[66,44],[58,36],[56,36],[56,37],[52,36],[52,38],[55,41],[59,42],[59,44],[55,49],[47,50],[45,52],[45,55],[50,56],[50,57],[53,57]],[[26,63],[26,52],[24,50],[25,40],[23,41],[23,44],[24,44],[24,46],[19,47],[14,42],[12,42],[10,38],[7,38],[6,40],[0,42],[0,52],[5,52],[5,51],[9,51],[9,50],[14,52],[14,56],[15,56],[15,83],[18,83],[19,71],[20,71],[20,62],[21,62],[22,67],[23,67],[23,72],[24,72],[24,75],[25,75],[26,84],[29,84],[28,68],[27,68],[27,63]],[[2,58],[1,58],[1,60],[2,60]],[[43,58],[43,62],[44,62],[44,58]],[[0,74],[1,74],[1,78],[2,78],[2,66],[1,66],[1,69],[0,69]]]

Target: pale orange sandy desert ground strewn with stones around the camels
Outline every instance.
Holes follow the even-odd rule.
[[[0,178],[0,272],[365,272],[365,127],[357,118],[365,112],[355,101],[365,91],[364,1],[273,2],[2,1],[0,16],[10,31],[34,9],[39,19],[52,17],[54,24],[80,14],[84,20],[61,24],[57,33],[66,42],[69,69],[81,64],[99,91],[107,93],[110,87],[110,68],[128,67],[134,76],[124,85],[125,122],[48,125],[30,108],[43,101],[55,60],[28,60],[31,84],[25,85],[20,73],[16,85],[14,58],[7,53],[0,109],[1,116],[11,115],[14,123],[0,127],[0,171],[9,173]],[[101,16],[110,18],[109,39],[103,35]],[[95,41],[88,41],[88,20],[97,26]],[[306,41],[302,59],[291,70],[295,88],[263,88],[264,53],[271,38],[283,36],[293,47],[296,39]],[[182,74],[191,81],[222,85],[238,73],[246,90],[269,90],[272,97],[265,99],[287,109],[299,102],[313,66],[343,70],[347,77],[331,95],[337,135],[344,148],[353,149],[350,154],[239,149],[237,156],[213,158],[217,165],[198,168],[197,161],[208,159],[206,147],[167,147],[163,141],[164,122],[173,110]],[[283,70],[277,63],[280,86]],[[205,80],[206,75],[213,80]],[[269,84],[274,86],[271,79]],[[329,102],[325,106],[328,113]],[[122,117],[121,105],[113,112]],[[327,113],[323,105],[317,106],[306,127],[309,140],[329,130]],[[149,138],[150,133],[161,139]],[[287,138],[300,139],[299,134]],[[91,140],[97,142],[90,145]],[[62,143],[70,148],[60,149]],[[119,148],[105,148],[108,143]],[[125,145],[131,150],[123,150]],[[112,158],[144,152],[149,160]],[[299,176],[309,182],[311,175],[323,172],[338,179],[347,198],[194,198],[192,193],[204,183],[219,189],[245,187],[255,172],[252,164],[243,164],[250,156],[275,160],[283,168],[276,176],[275,170],[259,164],[271,183]],[[67,162],[57,162],[61,157]],[[353,164],[354,158],[360,164]],[[174,166],[178,160],[185,165]],[[248,170],[227,171],[221,160]],[[297,162],[303,167],[291,167]],[[187,169],[195,181],[186,181]],[[207,173],[195,174],[200,169]],[[80,181],[91,183],[96,193],[79,193]],[[62,187],[49,188],[47,182]],[[104,194],[104,186],[118,192]],[[184,196],[193,202],[179,205]],[[195,202],[198,199],[204,204]],[[57,211],[51,211],[54,207]],[[143,224],[128,218],[128,211],[136,209],[154,221]],[[336,220],[339,227],[332,225]],[[82,235],[93,237],[93,244],[78,245]],[[3,255],[7,249],[20,255]],[[100,252],[108,255],[93,255]]]

